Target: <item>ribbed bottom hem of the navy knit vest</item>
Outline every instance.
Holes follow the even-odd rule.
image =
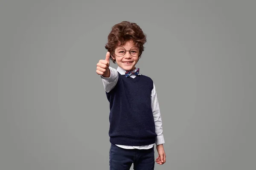
[[[120,144],[126,146],[143,146],[148,144],[154,144],[156,142],[156,138],[148,138],[148,139],[129,139],[124,137],[110,137],[110,142],[112,144]]]

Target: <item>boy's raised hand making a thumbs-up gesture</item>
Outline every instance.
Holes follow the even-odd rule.
[[[97,74],[102,75],[103,77],[110,77],[109,58],[110,58],[110,53],[107,52],[106,59],[99,60],[96,68]]]

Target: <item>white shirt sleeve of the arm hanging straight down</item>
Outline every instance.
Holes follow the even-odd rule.
[[[164,144],[165,140],[163,137],[162,118],[161,118],[159,103],[157,99],[157,92],[154,84],[153,84],[153,89],[151,91],[151,108],[154,116],[155,132],[157,134],[156,145]]]

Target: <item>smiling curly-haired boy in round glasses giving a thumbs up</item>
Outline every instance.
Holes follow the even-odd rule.
[[[123,21],[108,35],[105,60],[99,60],[100,75],[110,102],[110,170],[154,170],[166,162],[162,120],[155,86],[151,78],[136,68],[144,51],[146,35],[136,23]],[[110,67],[110,59],[118,68]]]

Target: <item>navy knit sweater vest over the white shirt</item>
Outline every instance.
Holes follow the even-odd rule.
[[[119,74],[116,86],[106,92],[110,102],[109,136],[112,144],[142,146],[155,143],[152,89],[153,81],[149,77],[131,78]]]

